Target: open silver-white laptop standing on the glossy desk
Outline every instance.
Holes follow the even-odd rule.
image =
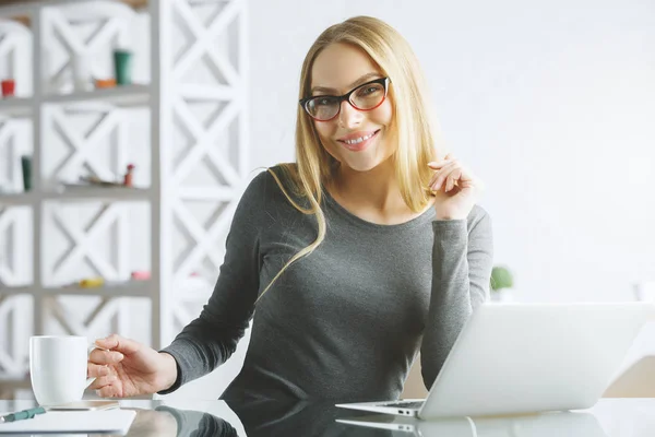
[[[425,400],[336,406],[422,420],[593,406],[618,376],[653,303],[480,305]]]

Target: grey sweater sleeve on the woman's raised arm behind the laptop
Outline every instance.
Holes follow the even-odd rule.
[[[420,350],[428,389],[464,323],[487,300],[493,263],[491,220],[481,208],[467,220],[434,221],[432,227],[432,287]]]

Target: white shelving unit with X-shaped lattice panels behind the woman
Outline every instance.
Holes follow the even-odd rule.
[[[104,5],[114,12],[103,16]],[[33,161],[31,191],[0,192],[0,390],[7,390],[2,381],[26,376],[32,334],[94,339],[118,331],[139,339],[145,329],[152,346],[168,344],[196,315],[189,306],[199,307],[211,294],[223,260],[248,179],[247,2],[158,0],[139,12],[146,16],[127,9],[109,0],[0,8],[1,19],[28,19],[34,73],[28,95],[0,99],[0,139],[2,122],[32,126],[25,138],[12,140],[25,144],[14,144],[10,158],[31,150]],[[129,43],[131,15],[150,26],[143,33],[150,49],[142,54],[150,81],[67,91],[73,57]],[[98,29],[90,33],[94,25]],[[134,114],[144,121],[135,122]],[[61,190],[58,180],[84,170],[120,177],[133,157],[134,125],[150,143],[143,186]],[[56,142],[68,147],[64,157],[50,156]],[[107,144],[111,160],[100,157]],[[0,142],[0,153],[7,150]],[[138,210],[146,211],[143,229],[136,229]],[[148,240],[142,250],[150,261],[146,281],[129,280],[134,233]],[[19,268],[25,271],[19,274]],[[64,286],[88,271],[124,282]],[[12,387],[22,387],[17,382]]]

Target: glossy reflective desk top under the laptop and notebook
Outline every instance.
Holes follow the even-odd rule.
[[[367,415],[364,412],[336,409],[332,402],[121,400],[120,403],[122,409],[136,411],[134,422],[127,434],[132,437],[652,437],[655,435],[655,399],[603,399],[594,408],[585,411],[499,418],[458,417],[431,422]],[[0,400],[2,412],[31,406],[35,406],[33,401]],[[336,422],[337,420],[359,422],[360,425],[344,424]],[[392,420],[394,422],[390,423]],[[403,429],[388,429],[390,427]],[[99,434],[74,436],[81,435],[99,436]],[[0,434],[0,436],[5,435]],[[57,435],[43,434],[43,436]]]

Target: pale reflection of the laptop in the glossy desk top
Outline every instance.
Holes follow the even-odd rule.
[[[587,412],[557,412],[508,417],[450,417],[433,421],[377,414],[337,418],[336,422],[388,429],[396,436],[415,437],[607,437],[596,416]]]

